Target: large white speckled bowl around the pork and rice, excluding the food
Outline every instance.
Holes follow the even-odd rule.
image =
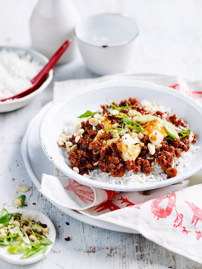
[[[46,112],[40,125],[40,143],[48,159],[65,175],[75,179],[77,182],[98,187],[101,189],[116,191],[141,191],[155,189],[188,178],[202,168],[202,148],[190,162],[189,167],[184,168],[183,172],[176,177],[167,180],[145,183],[138,185],[115,185],[98,182],[93,179],[85,178],[72,170],[65,162],[62,149],[58,147],[57,139],[62,132],[65,116],[83,114],[86,110],[97,111],[100,104],[106,103],[106,98],[112,98],[117,102],[129,97],[138,100],[147,99],[155,101],[157,105],[170,107],[172,113],[183,118],[189,123],[191,130],[196,133],[197,143],[202,144],[202,107],[196,101],[184,96],[179,91],[169,87],[160,86],[152,83],[119,80],[104,83],[97,83],[82,87],[55,102]]]

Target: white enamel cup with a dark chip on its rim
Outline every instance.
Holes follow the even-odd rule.
[[[109,75],[127,68],[138,27],[128,17],[99,14],[77,24],[75,35],[87,68],[99,75]]]

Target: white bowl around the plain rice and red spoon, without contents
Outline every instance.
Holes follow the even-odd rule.
[[[38,62],[42,66],[44,66],[49,61],[48,58],[46,58],[46,56],[42,55],[41,53],[33,49],[0,46],[0,51],[2,49],[6,49],[7,51],[26,51],[26,54],[30,55],[32,60]],[[13,111],[13,110],[26,106],[34,98],[36,98],[37,95],[39,95],[42,91],[44,91],[48,87],[52,79],[53,79],[53,69],[49,71],[48,77],[43,82],[43,84],[33,93],[30,93],[27,96],[19,98],[19,99],[0,102],[0,113]]]

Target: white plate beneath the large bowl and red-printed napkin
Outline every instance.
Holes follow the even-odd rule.
[[[51,105],[52,102],[46,104],[30,121],[21,144],[22,157],[25,163],[25,167],[27,169],[27,173],[29,174],[37,189],[41,189],[41,175],[43,173],[46,173],[47,175],[54,175],[54,165],[47,159],[39,142],[39,125],[44,114]],[[53,203],[51,200],[49,201],[54,204],[54,206],[59,208],[62,212],[90,225],[117,232],[139,233],[138,231],[135,231],[130,228],[125,228],[119,225],[90,218],[86,215],[82,215],[76,210],[63,207],[61,205],[58,205],[57,203]]]

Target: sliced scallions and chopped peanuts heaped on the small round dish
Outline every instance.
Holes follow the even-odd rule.
[[[47,236],[49,228],[40,221],[35,222],[34,218],[31,219],[29,215],[22,217],[20,213],[8,213],[2,208],[0,246],[9,247],[7,251],[11,254],[23,254],[21,259],[45,254],[47,247],[53,244]]]

